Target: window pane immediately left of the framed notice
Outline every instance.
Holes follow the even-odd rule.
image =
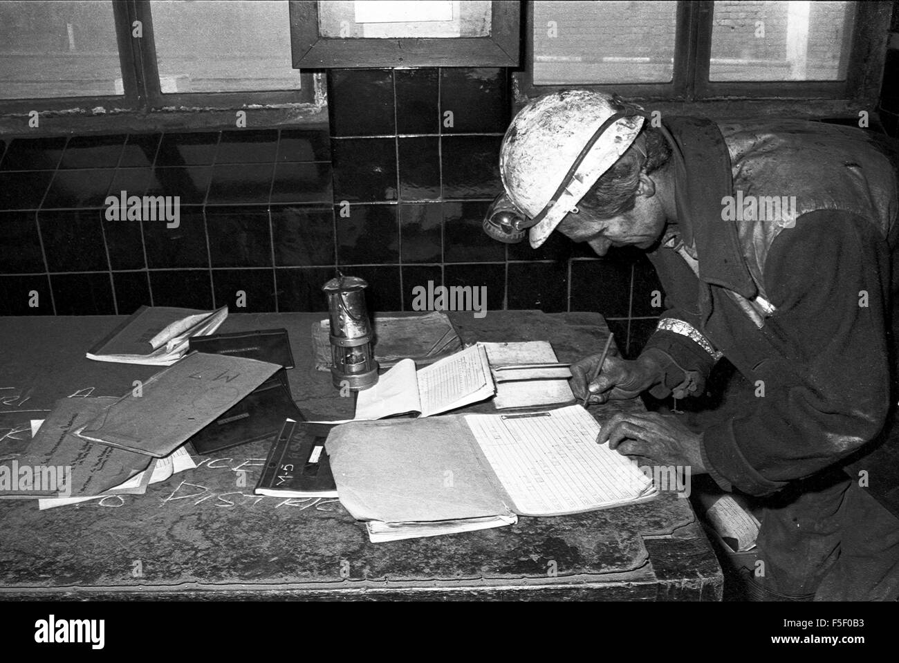
[[[286,0],[153,0],[164,93],[298,90]]]

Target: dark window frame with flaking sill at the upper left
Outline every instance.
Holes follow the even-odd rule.
[[[320,121],[322,114],[326,113],[324,74],[308,70],[300,74],[300,90],[163,93],[156,66],[150,0],[112,0],[111,4],[124,94],[0,100],[0,134],[10,133],[16,127],[27,131],[27,113],[33,110],[41,115],[48,114],[49,119],[60,127],[105,123],[111,128],[129,128],[134,126],[133,118],[139,116],[151,120],[145,121],[145,130],[233,128],[234,115],[227,111],[240,110],[249,105],[263,107],[254,108],[254,113],[273,125],[303,122],[306,119]],[[143,36],[139,39],[131,37],[131,26],[135,21],[142,24]],[[94,109],[100,111],[95,112]],[[198,121],[198,109],[209,111],[203,114],[205,121]],[[67,121],[58,115],[63,110],[70,116]],[[109,113],[107,110],[115,112]],[[85,116],[90,116],[94,121],[89,121]],[[41,123],[44,123],[43,117]]]

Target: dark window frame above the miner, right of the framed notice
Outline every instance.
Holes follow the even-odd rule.
[[[750,105],[764,105],[768,100],[805,102],[821,99],[823,109],[827,110],[854,108],[859,103],[877,101],[892,14],[892,3],[888,0],[856,3],[849,63],[843,81],[709,81],[714,6],[712,0],[678,1],[671,83],[537,85],[534,84],[533,62],[534,0],[529,0],[525,17],[524,64],[513,76],[516,102],[525,103],[542,94],[573,87],[666,102],[741,100]],[[679,66],[679,63],[683,65]]]

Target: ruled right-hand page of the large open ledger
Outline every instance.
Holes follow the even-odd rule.
[[[596,444],[600,425],[579,405],[465,420],[522,516],[587,511],[654,494],[636,463]]]

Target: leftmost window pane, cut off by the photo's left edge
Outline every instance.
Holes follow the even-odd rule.
[[[0,99],[111,96],[120,84],[110,1],[0,2]]]

